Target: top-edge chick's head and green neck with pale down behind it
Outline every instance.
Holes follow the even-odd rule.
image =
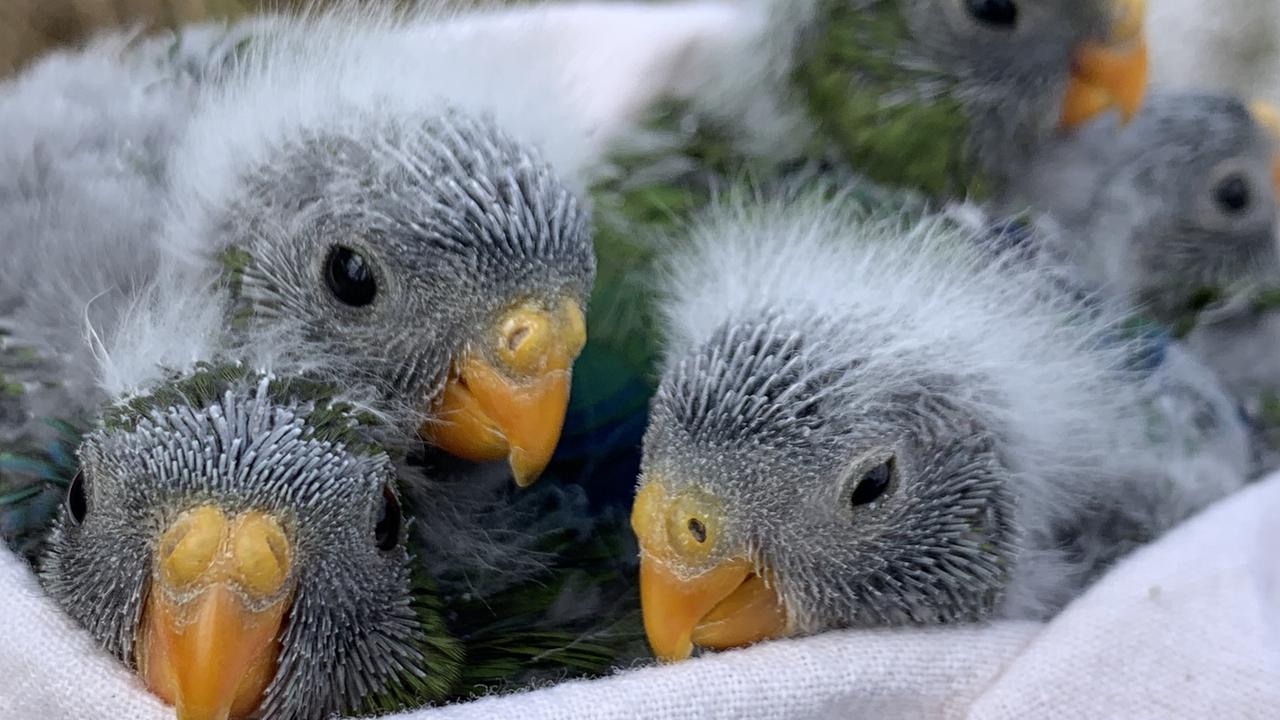
[[[751,13],[684,79],[694,115],[740,154],[817,150],[934,197],[1004,187],[1033,149],[1108,110],[1130,118],[1146,90],[1144,0],[764,0]]]

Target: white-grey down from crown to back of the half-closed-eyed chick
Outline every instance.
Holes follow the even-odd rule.
[[[1244,480],[1244,430],[1194,360],[1170,348],[1153,373],[1129,370],[1135,346],[1119,313],[1087,311],[1043,270],[998,259],[942,218],[868,217],[813,197],[728,202],[673,252],[663,310],[669,356],[724,322],[804,318],[828,340],[814,346],[829,355],[817,373],[835,397],[858,397],[869,377],[956,378],[1018,482],[1029,553],[1011,616],[1043,615],[1065,600],[1065,578],[1114,556],[1101,537],[1087,557],[1052,546],[1051,528],[1094,523],[1087,502],[1158,532]]]

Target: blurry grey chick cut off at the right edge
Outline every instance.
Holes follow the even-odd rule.
[[[1280,115],[1210,94],[1153,94],[1134,122],[1048,145],[1002,200],[1042,211],[1044,250],[1185,334],[1215,301],[1280,279]]]

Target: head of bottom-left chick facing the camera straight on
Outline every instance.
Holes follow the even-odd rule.
[[[356,710],[440,660],[392,461],[317,387],[202,368],[81,447],[45,587],[180,720]]]

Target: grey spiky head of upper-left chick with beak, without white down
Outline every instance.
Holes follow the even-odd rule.
[[[219,229],[233,284],[247,313],[300,324],[384,387],[425,439],[531,483],[585,343],[586,214],[489,120],[360,127],[284,143],[251,173]]]

